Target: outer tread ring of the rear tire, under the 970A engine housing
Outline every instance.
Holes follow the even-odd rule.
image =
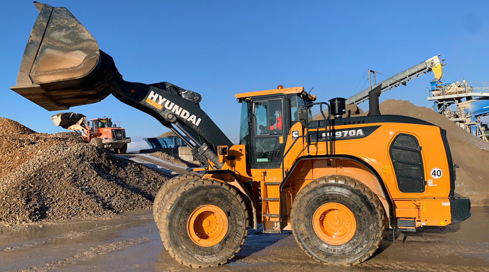
[[[384,227],[385,227],[385,213],[384,213],[384,208],[381,204],[381,201],[378,199],[378,197],[373,193],[368,187],[366,187],[364,184],[362,184],[359,180],[356,180],[354,178],[348,177],[348,176],[342,176],[342,175],[330,175],[330,176],[323,176],[320,178],[317,178],[310,182],[308,185],[306,185],[295,197],[294,202],[300,201],[301,197],[308,193],[309,191],[313,190],[314,187],[323,185],[323,184],[328,184],[328,183],[336,183],[336,184],[344,184],[348,187],[354,188],[358,192],[362,193],[368,201],[375,207],[375,211],[377,212],[378,215],[378,228],[379,232],[377,233],[377,237],[375,240],[375,243],[373,244],[372,248],[368,251],[368,253],[361,259],[351,262],[351,263],[336,263],[336,262],[328,262],[328,261],[322,261],[311,255],[302,245],[302,243],[299,241],[297,238],[297,234],[293,232],[294,238],[297,241],[297,244],[301,247],[301,249],[306,252],[306,254],[313,258],[315,261],[318,262],[323,262],[323,263],[328,263],[328,264],[335,264],[335,265],[356,265],[361,262],[366,261],[368,258],[370,258],[375,251],[377,250],[379,244],[381,244],[382,237],[384,236]],[[294,206],[292,206],[292,211],[291,211],[291,218],[294,218],[295,213],[301,213],[300,210],[294,209]],[[294,221],[291,221],[291,224],[294,224]],[[293,229],[293,226],[292,226]]]

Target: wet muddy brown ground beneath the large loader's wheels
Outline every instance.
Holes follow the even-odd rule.
[[[0,271],[489,271],[489,207],[444,228],[386,231],[375,256],[351,267],[309,258],[290,232],[250,229],[228,264],[191,269],[163,248],[151,210],[111,219],[0,228]]]

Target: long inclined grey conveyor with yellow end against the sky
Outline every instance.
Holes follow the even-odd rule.
[[[379,82],[375,85],[373,85],[371,88],[366,88],[362,90],[362,92],[349,97],[346,100],[346,105],[350,104],[360,104],[362,102],[365,102],[368,100],[368,93],[370,89],[374,89],[378,85],[382,85],[381,88],[381,94],[387,92],[388,90],[395,88],[399,85],[405,85],[406,82],[410,81],[411,79],[417,78],[420,75],[424,75],[430,71],[433,71],[434,73],[434,79],[432,81],[440,81],[443,75],[443,69],[442,67],[444,64],[440,60],[440,55],[438,56],[433,56],[429,58],[427,61],[424,61],[420,64],[417,64],[407,70],[404,70],[400,72],[397,75],[394,75],[382,82]]]

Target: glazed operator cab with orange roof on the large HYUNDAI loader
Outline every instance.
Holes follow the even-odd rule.
[[[239,144],[246,146],[247,163],[253,169],[280,167],[287,133],[298,122],[306,126],[306,106],[316,97],[304,87],[282,86],[235,97],[242,103]]]

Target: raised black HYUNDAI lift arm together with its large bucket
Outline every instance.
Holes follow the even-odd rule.
[[[17,84],[11,87],[14,92],[47,110],[97,103],[112,94],[177,133],[204,166],[221,168],[217,147],[232,142],[200,108],[198,93],[168,82],[125,81],[113,58],[66,8],[34,5],[39,16],[24,49]]]

